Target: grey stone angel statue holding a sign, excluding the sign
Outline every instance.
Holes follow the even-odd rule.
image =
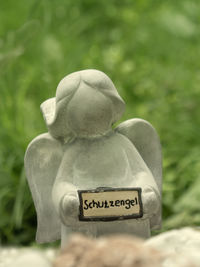
[[[37,242],[73,232],[93,237],[127,233],[142,238],[161,226],[162,156],[159,137],[145,120],[117,122],[125,109],[110,78],[98,70],[64,77],[56,96],[41,104],[48,133],[25,154],[25,170],[37,212]],[[143,216],[80,221],[78,190],[142,189]]]

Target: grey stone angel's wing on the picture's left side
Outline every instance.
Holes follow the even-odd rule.
[[[37,212],[36,241],[60,239],[61,224],[52,202],[52,187],[62,158],[61,143],[48,133],[36,137],[25,154],[25,171]]]

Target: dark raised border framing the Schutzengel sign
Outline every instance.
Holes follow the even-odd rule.
[[[91,216],[91,217],[84,217],[83,214],[83,198],[82,193],[101,193],[101,192],[112,192],[112,191],[137,191],[138,192],[138,201],[140,205],[140,212],[138,214],[132,215],[124,215],[124,216]],[[142,204],[142,188],[140,187],[123,187],[123,188],[109,188],[109,187],[98,187],[96,189],[88,189],[88,190],[77,190],[79,196],[79,221],[117,221],[117,220],[128,220],[128,219],[138,219],[143,216],[143,204]]]

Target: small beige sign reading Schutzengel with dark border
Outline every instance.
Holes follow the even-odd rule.
[[[115,221],[143,216],[141,188],[78,190],[80,221]]]

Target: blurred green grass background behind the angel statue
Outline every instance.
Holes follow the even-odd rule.
[[[0,242],[34,243],[24,174],[45,132],[39,106],[65,75],[104,71],[163,148],[163,230],[200,225],[200,1],[6,0],[0,3]]]

